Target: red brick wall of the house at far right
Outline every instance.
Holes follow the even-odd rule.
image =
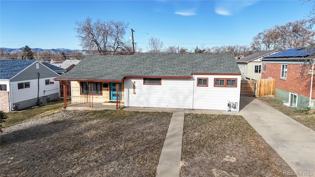
[[[287,64],[286,80],[280,79],[281,63],[266,63],[266,72],[261,73],[261,79],[273,77],[276,79],[276,88],[310,97],[311,74],[301,79],[302,64]],[[313,77],[312,98],[315,98],[315,77]]]

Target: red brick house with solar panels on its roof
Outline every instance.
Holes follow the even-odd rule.
[[[315,54],[315,51],[288,49],[262,59],[261,78],[276,79],[275,94],[287,102],[288,106],[302,109],[315,108],[315,81],[312,67],[305,65],[309,63],[311,54]],[[307,69],[303,71],[302,68]]]

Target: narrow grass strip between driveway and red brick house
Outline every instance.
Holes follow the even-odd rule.
[[[282,101],[277,97],[259,97],[260,101],[282,112],[286,116],[302,123],[303,125],[315,130],[315,113],[309,113],[308,110],[298,110],[284,106]]]

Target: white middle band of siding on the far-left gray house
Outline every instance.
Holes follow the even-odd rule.
[[[55,77],[39,79],[39,97],[53,94],[53,93],[59,93],[58,81],[55,81],[54,84],[45,85],[46,79],[54,79],[54,78]],[[37,81],[38,81],[37,79],[33,79],[33,80],[26,80],[26,81],[11,82],[11,93],[12,93],[11,103],[29,100],[32,98],[37,98],[37,92],[38,92]],[[18,83],[25,83],[25,82],[30,82],[31,87],[26,88],[26,89],[18,89]]]

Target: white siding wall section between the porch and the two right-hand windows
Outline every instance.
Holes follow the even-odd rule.
[[[135,82],[135,94],[133,92]],[[143,85],[143,79],[125,80],[125,106],[192,108],[192,79],[162,79],[161,85]]]

